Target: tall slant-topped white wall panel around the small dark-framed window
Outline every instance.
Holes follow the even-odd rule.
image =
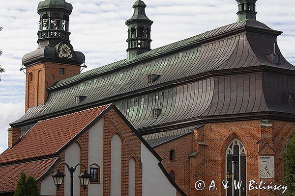
[[[103,119],[96,123],[89,130],[89,167],[97,164],[100,167],[100,183],[89,184],[88,196],[103,195]],[[94,166],[93,166],[94,167]],[[95,167],[96,168],[96,167]],[[88,168],[90,172],[90,168]],[[99,176],[98,176],[99,177]]]

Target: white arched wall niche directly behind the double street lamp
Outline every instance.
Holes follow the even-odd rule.
[[[80,163],[80,147],[74,142],[68,147],[65,151],[64,155],[65,163],[67,163],[70,167],[75,167],[77,163]],[[60,166],[63,167],[63,166]],[[70,196],[70,172],[68,169],[64,168],[64,173],[66,176],[64,177],[64,196]],[[77,167],[76,172],[74,173],[73,178],[73,195],[80,196],[80,180],[77,175],[80,174],[80,166]]]

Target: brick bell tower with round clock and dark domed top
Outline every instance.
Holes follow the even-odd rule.
[[[70,44],[69,17],[72,5],[65,0],[44,0],[38,5],[40,16],[38,48],[23,57],[26,67],[26,112],[46,102],[47,88],[59,80],[80,73],[85,62],[82,52]]]

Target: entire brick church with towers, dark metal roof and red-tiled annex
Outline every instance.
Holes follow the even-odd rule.
[[[126,59],[80,73],[72,5],[41,1],[38,48],[22,61],[26,113],[10,123],[0,195],[13,195],[24,171],[42,196],[68,196],[66,167],[59,189],[50,176],[66,162],[91,174],[85,191],[74,178],[74,196],[274,196],[249,183],[283,185],[295,66],[277,45],[283,32],[256,20],[257,0],[233,3],[237,22],[151,49],[153,21],[137,0]]]

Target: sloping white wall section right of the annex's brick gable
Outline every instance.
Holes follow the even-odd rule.
[[[176,196],[176,188],[158,166],[159,160],[142,143],[143,196]]]

